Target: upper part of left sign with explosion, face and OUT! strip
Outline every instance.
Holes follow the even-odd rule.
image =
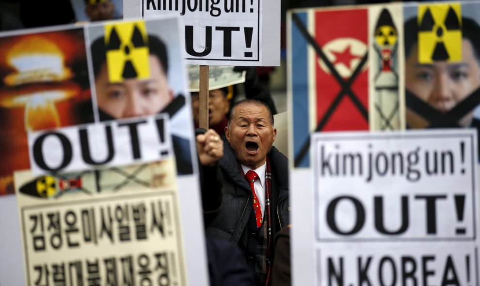
[[[0,128],[0,147],[5,151],[5,164],[0,167],[0,194],[13,193],[14,170],[32,167],[33,172],[39,174],[42,170],[73,171],[107,163],[107,166],[131,165],[159,160],[160,149],[165,150],[169,146],[176,151],[178,173],[192,174],[193,153],[190,148],[193,147],[193,135],[189,132],[193,128],[192,116],[191,109],[187,106],[190,104],[186,99],[189,91],[178,50],[178,21],[178,18],[169,17],[163,20],[151,19],[146,23],[132,21],[90,25],[88,39],[85,31],[87,26],[66,26],[34,32],[27,30],[0,37],[0,48],[7,55],[6,60],[0,63],[4,67],[1,70],[3,80],[0,85],[0,116],[4,118]],[[171,29],[159,30],[160,26]],[[101,41],[104,40],[102,37],[106,34],[107,27],[110,27],[110,32],[118,30],[118,34],[112,33],[119,37],[117,51],[110,45],[109,55],[115,56],[116,52],[119,58],[110,59],[106,56],[105,47],[102,47]],[[135,30],[134,27],[143,28]],[[141,53],[142,48],[133,48],[132,39],[150,40],[150,49],[144,49],[157,56],[156,60],[152,59],[152,80],[142,90],[143,93],[147,92],[143,97],[135,95],[143,93],[135,93],[138,91],[138,84],[135,87],[136,79],[128,75],[128,68],[123,68],[123,65],[135,67],[131,70],[134,73],[138,70],[140,76],[143,75],[142,71],[149,71],[149,65],[142,68],[135,60],[141,55],[136,51],[140,50]],[[144,59],[148,59],[146,54]],[[110,70],[124,73],[115,83],[110,83],[106,73],[108,63],[112,62],[117,63],[117,66],[113,65]],[[89,65],[93,73],[89,73]],[[139,79],[146,80],[149,76],[146,73],[144,78]],[[120,82],[121,80],[125,82]],[[160,125],[157,124],[160,123],[159,119],[156,122],[153,119],[146,120],[151,124],[143,122],[144,118],[137,121],[124,120],[157,115],[160,112],[170,117],[168,128],[172,130],[172,138],[162,138],[162,130],[167,126],[160,125],[165,120],[160,120]],[[124,121],[100,124],[100,121],[111,120]],[[88,123],[96,124],[83,125]],[[192,128],[178,128],[183,126]],[[68,128],[52,131],[63,127]],[[103,139],[96,139],[98,136]],[[84,143],[90,142],[92,146],[80,146],[82,140],[76,138],[83,138]],[[54,145],[49,145],[48,142]],[[145,144],[153,144],[151,147],[157,151],[148,153]],[[167,145],[162,147],[163,144]],[[93,148],[93,145],[99,149]],[[100,150],[104,150],[102,146],[106,146],[107,151],[101,153]],[[97,157],[91,157],[93,153],[88,155],[80,151],[86,151],[85,148],[97,152]],[[70,149],[73,157],[67,160]],[[48,161],[48,156],[56,156],[58,160]],[[89,164],[85,165],[86,161],[81,159],[83,163],[79,165],[79,158],[96,163],[87,166]],[[52,166],[48,166],[48,162]],[[39,167],[39,163],[43,167]]]

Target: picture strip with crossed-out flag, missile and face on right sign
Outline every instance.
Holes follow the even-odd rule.
[[[291,11],[293,166],[310,166],[315,131],[478,129],[479,11],[479,1]]]

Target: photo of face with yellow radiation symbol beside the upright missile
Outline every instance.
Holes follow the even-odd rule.
[[[409,5],[403,13],[407,129],[480,130],[480,3]]]

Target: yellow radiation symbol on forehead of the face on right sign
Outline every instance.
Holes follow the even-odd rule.
[[[460,4],[418,6],[418,61],[462,60]]]

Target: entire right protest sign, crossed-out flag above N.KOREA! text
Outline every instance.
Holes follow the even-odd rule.
[[[472,263],[479,246],[474,196],[479,154],[474,135],[480,106],[480,53],[474,43],[479,43],[479,9],[479,1],[461,1],[289,12],[294,285],[479,283],[479,265]],[[322,29],[326,25],[322,23],[337,23],[330,15],[349,20]],[[353,30],[357,32],[348,34]],[[332,37],[335,45],[329,41]],[[363,52],[356,40],[366,46]],[[352,67],[357,70],[352,72]],[[452,127],[470,130],[413,131]],[[377,152],[377,139],[369,137],[373,135],[364,135],[369,138],[365,141],[373,142],[368,147],[358,139],[361,135],[350,132],[362,129],[407,131],[375,133],[384,142],[380,144],[384,150]],[[322,153],[318,142],[311,145],[312,136],[321,142],[334,140],[328,137],[330,131],[349,132],[332,135],[337,142],[328,145],[332,148],[328,152]],[[422,139],[413,143],[418,135]],[[437,139],[426,139],[429,136]],[[465,140],[469,147],[462,143]],[[391,158],[397,152],[394,148],[403,158],[410,152],[410,163],[403,159],[402,166],[392,165],[384,156]],[[470,153],[465,155],[464,148]],[[383,164],[362,166],[363,181],[355,161],[360,153],[364,163]],[[413,165],[417,155],[423,169]],[[450,157],[455,163],[448,161]],[[394,170],[388,169],[392,166]],[[430,169],[425,171],[426,167]],[[415,181],[416,175],[421,179]]]

